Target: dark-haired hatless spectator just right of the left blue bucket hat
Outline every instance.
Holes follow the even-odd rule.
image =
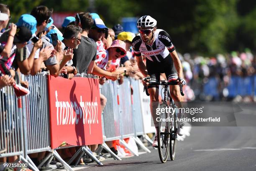
[[[31,11],[31,15],[36,18],[36,32],[35,35],[41,37],[41,32],[45,30],[47,25],[51,25],[51,20],[49,20],[51,16],[52,10],[49,10],[46,6],[38,6],[34,7]],[[56,58],[56,51],[54,50],[53,45],[47,41],[47,38],[42,36],[43,41],[43,49],[37,50],[35,55],[33,68],[31,69],[31,74],[36,74],[41,69],[41,64],[44,62],[46,68],[50,71],[51,75],[55,77],[59,76],[59,60]],[[32,45],[28,44],[28,50],[31,52]]]

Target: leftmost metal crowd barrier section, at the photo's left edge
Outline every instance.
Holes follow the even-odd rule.
[[[13,87],[0,89],[0,157],[23,155],[21,113]]]

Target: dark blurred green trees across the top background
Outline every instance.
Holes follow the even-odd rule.
[[[37,5],[58,12],[97,12],[108,27],[122,17],[151,15],[179,52],[202,55],[256,51],[255,0],[5,0],[13,21]]]

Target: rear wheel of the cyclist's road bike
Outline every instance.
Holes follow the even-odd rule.
[[[175,158],[175,152],[176,152],[176,144],[177,144],[177,141],[176,141],[176,138],[177,138],[177,116],[176,114],[174,113],[172,116],[173,118],[173,121],[171,123],[171,128],[170,128],[170,131],[171,131],[171,138],[170,138],[170,158],[171,160],[174,160]]]

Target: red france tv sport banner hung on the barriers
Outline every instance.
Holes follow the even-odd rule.
[[[51,148],[102,144],[99,80],[48,76]]]

